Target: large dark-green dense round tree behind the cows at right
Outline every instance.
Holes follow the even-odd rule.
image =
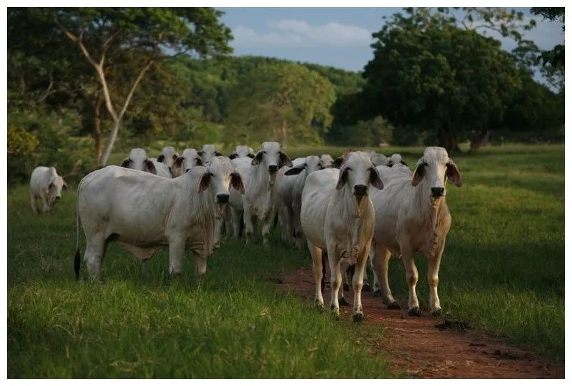
[[[373,34],[374,59],[363,76],[366,118],[421,126],[437,144],[458,151],[471,129],[502,117],[520,89],[513,57],[498,40],[461,29],[442,15],[406,10]]]

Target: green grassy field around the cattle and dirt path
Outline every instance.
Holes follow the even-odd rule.
[[[286,150],[294,157],[343,149]],[[423,149],[384,154],[393,151],[413,167]],[[564,361],[564,145],[487,147],[454,159],[464,185],[448,187],[444,310]],[[277,233],[270,249],[225,242],[202,285],[191,259],[170,281],[166,250],[141,263],[113,244],[102,282],[76,283],[74,209],[73,186],[48,216],[32,215],[27,186],[8,190],[9,378],[392,376],[384,358],[356,345],[383,326],[336,320],[310,300],[277,294],[281,275],[310,264]],[[82,253],[84,244],[82,234]],[[417,265],[423,308],[426,262]],[[400,260],[391,262],[390,285],[406,302]]]

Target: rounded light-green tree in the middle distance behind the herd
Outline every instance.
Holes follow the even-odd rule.
[[[227,124],[248,128],[255,140],[316,142],[331,123],[335,98],[331,82],[305,66],[260,64],[229,90]]]

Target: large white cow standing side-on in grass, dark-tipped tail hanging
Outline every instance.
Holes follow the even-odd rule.
[[[77,188],[75,277],[80,273],[80,222],[86,235],[84,260],[96,279],[109,242],[139,260],[169,246],[169,273],[180,274],[186,249],[193,251],[195,272],[206,272],[216,250],[216,223],[229,197],[229,186],[243,184],[228,158],[213,158],[180,178],[165,179],[139,170],[107,166],[86,175]]]

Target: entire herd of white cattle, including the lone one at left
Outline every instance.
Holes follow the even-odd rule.
[[[308,246],[320,306],[324,306],[328,260],[330,308],[339,314],[340,302],[347,304],[343,291],[351,285],[354,320],[362,320],[361,291],[369,261],[374,295],[381,296],[388,308],[398,309],[388,282],[393,254],[405,266],[408,313],[418,316],[413,253],[420,252],[428,261],[430,311],[438,315],[442,312],[437,295],[439,263],[451,227],[445,201],[447,179],[462,185],[458,167],[441,147],[427,147],[413,172],[399,154],[386,157],[374,151],[292,161],[278,142],[263,142],[256,153],[237,146],[229,156],[212,144],[200,151],[185,149],[181,155],[165,147],[158,158],[148,157],[144,149],[133,149],[120,166],[90,172],[77,187],[76,279],[81,260],[80,223],[91,279],[98,277],[109,242],[140,260],[168,246],[172,275],[181,273],[185,251],[190,249],[196,273],[202,276],[223,234],[230,237],[232,233],[248,243],[257,225],[267,246],[273,224],[279,223],[283,242]],[[34,213],[38,198],[41,211],[49,211],[66,187],[54,168],[33,170]]]

